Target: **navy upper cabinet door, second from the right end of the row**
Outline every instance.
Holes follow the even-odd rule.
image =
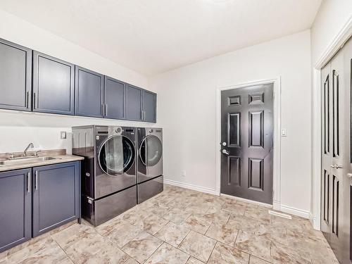
[[[130,84],[126,88],[126,119],[142,120],[142,89]]]

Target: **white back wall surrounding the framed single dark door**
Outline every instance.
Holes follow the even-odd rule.
[[[216,56],[152,77],[164,129],[165,178],[215,189],[219,87],[281,76],[282,205],[310,209],[310,31]],[[181,171],[186,171],[186,177]]]

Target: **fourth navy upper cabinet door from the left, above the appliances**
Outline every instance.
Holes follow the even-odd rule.
[[[105,118],[125,118],[125,82],[105,76],[104,83]]]

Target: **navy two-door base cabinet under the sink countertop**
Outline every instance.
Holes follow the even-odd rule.
[[[80,221],[80,161],[0,172],[0,252]]]

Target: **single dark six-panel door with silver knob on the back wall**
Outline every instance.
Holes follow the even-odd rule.
[[[221,193],[272,204],[273,84],[221,92]]]

